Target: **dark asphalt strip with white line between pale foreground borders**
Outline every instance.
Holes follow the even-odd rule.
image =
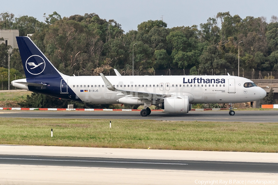
[[[0,164],[278,173],[278,163],[0,155]]]

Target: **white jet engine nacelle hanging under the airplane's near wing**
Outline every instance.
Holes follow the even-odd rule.
[[[164,99],[164,112],[165,113],[188,113],[191,110],[189,97],[183,95],[175,95]]]

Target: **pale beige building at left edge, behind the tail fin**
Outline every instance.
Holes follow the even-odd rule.
[[[5,43],[6,45],[10,45],[13,48],[18,48],[15,37],[19,36],[19,30],[0,30],[0,38],[3,38],[4,41],[0,41],[1,43]]]

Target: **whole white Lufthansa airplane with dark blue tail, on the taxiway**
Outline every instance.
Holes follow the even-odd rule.
[[[36,44],[26,36],[16,37],[26,79],[11,85],[71,101],[94,104],[144,105],[164,113],[188,113],[192,104],[243,103],[257,101],[266,91],[251,80],[228,75],[209,76],[68,76],[59,72]],[[234,115],[233,106],[229,114]]]

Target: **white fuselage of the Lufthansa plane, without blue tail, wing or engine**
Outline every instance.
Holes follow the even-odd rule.
[[[163,94],[179,93],[188,96],[191,104],[249,102],[260,100],[266,95],[260,87],[245,88],[244,83],[252,81],[238,76],[106,77],[117,89]],[[63,76],[63,78],[83,102],[114,104],[119,103],[117,100],[123,97],[118,92],[108,90],[101,76]]]

